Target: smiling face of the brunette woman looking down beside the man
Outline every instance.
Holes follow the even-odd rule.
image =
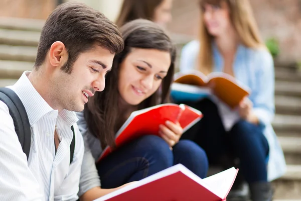
[[[129,105],[140,104],[157,91],[171,65],[169,52],[132,48],[120,64],[118,91]]]

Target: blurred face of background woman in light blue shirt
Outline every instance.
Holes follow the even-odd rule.
[[[203,7],[205,27],[210,35],[219,37],[231,27],[229,8],[225,2],[220,6],[205,4]]]

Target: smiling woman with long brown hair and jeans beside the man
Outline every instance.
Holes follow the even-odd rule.
[[[103,195],[102,188],[114,190],[178,163],[201,178],[207,174],[204,150],[190,140],[179,141],[183,129],[169,121],[160,125],[160,137],[145,135],[135,139],[106,156],[95,169],[94,162],[102,149],[107,145],[114,148],[115,134],[129,115],[168,102],[173,81],[175,47],[161,26],[140,19],[126,23],[120,32],[124,50],[114,57],[105,89],[90,97],[84,113],[78,114],[86,142],[79,186],[82,200]]]

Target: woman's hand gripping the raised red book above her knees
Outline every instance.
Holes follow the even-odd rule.
[[[159,134],[170,147],[173,147],[179,142],[183,129],[179,123],[175,124],[171,121],[166,121],[165,125],[161,124],[159,126]]]

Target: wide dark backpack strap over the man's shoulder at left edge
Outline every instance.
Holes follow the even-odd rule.
[[[0,100],[2,100],[9,108],[10,115],[14,121],[15,131],[23,152],[28,159],[31,143],[31,130],[25,107],[19,96],[10,88],[0,88]]]

